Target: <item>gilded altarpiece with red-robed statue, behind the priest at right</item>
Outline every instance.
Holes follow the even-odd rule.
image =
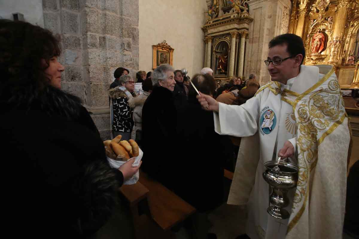
[[[352,97],[359,89],[359,0],[292,0],[292,4],[289,33],[302,37],[304,63],[334,66],[347,111],[359,114],[359,99]]]

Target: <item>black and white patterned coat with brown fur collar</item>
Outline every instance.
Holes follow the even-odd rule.
[[[126,91],[127,90],[123,91],[119,87],[115,87],[108,92],[112,100],[112,131],[130,133],[134,125],[134,121],[132,120],[133,109],[131,109],[129,105]]]

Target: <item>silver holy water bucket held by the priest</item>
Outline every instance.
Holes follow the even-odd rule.
[[[289,212],[284,207],[289,205],[287,192],[297,186],[298,167],[292,163],[272,160],[264,163],[266,170],[263,172],[264,180],[272,187],[269,201],[269,215],[278,219],[289,218]],[[278,166],[278,167],[276,167]]]

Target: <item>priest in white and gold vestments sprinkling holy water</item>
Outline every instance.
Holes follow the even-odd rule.
[[[303,41],[283,34],[269,43],[271,80],[241,106],[201,94],[214,111],[219,134],[243,137],[228,204],[247,205],[251,239],[337,239],[344,223],[350,133],[344,101],[331,66],[304,66]],[[298,165],[288,192],[290,218],[267,214],[270,186],[264,163],[278,156]]]

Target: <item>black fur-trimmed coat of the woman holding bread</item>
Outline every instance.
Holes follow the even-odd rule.
[[[77,97],[51,86],[13,98],[0,101],[4,231],[14,238],[92,235],[123,182],[93,120]]]

